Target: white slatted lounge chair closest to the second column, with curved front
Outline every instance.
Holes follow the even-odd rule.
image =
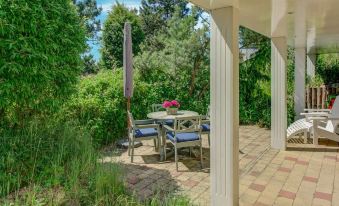
[[[293,122],[287,128],[287,139],[290,139],[294,136],[304,136],[304,143],[307,143],[307,137],[312,136],[313,131],[313,122],[312,118],[314,117],[339,117],[339,96],[336,97],[336,100],[333,104],[332,109],[305,109],[305,113],[301,113],[305,116],[303,119],[299,119]],[[322,127],[326,126],[328,123],[327,119],[322,122]],[[326,127],[325,127],[326,128]]]

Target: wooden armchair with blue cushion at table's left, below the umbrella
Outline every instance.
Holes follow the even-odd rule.
[[[155,124],[152,120],[134,120],[133,115],[130,112],[128,112],[128,117],[130,124],[128,132],[128,155],[131,156],[131,162],[133,162],[134,142],[136,140],[142,141],[153,139],[155,149],[159,148],[161,130],[159,124]]]

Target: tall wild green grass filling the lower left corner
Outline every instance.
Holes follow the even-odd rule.
[[[77,123],[32,121],[0,135],[0,205],[189,205],[172,196],[138,202],[121,166],[99,162]]]

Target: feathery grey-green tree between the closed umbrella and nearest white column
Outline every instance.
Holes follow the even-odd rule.
[[[162,48],[143,44],[135,59],[141,79],[155,85],[159,102],[178,99],[183,107],[206,110],[209,102],[209,35],[208,27],[198,25],[194,7],[185,17],[180,8],[167,21],[167,31],[154,39]]]

